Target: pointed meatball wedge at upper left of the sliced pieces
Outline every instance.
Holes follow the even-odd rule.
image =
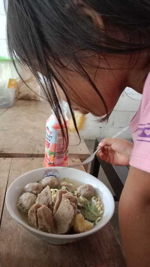
[[[45,187],[40,194],[38,194],[37,202],[52,209],[52,192],[49,185]]]

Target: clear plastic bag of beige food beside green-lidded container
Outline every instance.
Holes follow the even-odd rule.
[[[26,69],[21,68],[19,73],[25,83],[21,78],[17,79],[16,97],[18,99],[43,100],[41,97],[45,98],[45,96],[30,69],[28,67]]]

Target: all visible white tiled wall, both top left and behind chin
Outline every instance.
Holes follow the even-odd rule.
[[[0,0],[0,56],[8,56],[6,45],[6,16],[3,0]],[[139,108],[141,95],[137,94],[131,88],[126,88],[126,92],[129,97],[125,93],[122,94],[108,123],[98,123],[96,122],[96,117],[91,114],[87,115],[85,128],[81,131],[83,138],[95,139],[97,136],[112,137],[129,124],[129,121]],[[133,100],[130,97],[137,100]],[[129,137],[131,137],[129,130],[122,134],[122,138]]]

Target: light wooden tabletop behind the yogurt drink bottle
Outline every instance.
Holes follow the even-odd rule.
[[[44,157],[45,124],[51,114],[47,101],[18,100],[0,116],[0,157]],[[10,140],[10,142],[8,142]],[[71,134],[71,144],[79,143]],[[69,146],[69,153],[86,159],[90,152],[81,138],[78,146]]]

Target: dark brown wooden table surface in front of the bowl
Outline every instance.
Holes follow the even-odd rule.
[[[52,245],[36,239],[18,225],[4,208],[0,229],[3,267],[125,267],[120,244],[110,224],[78,242]]]

